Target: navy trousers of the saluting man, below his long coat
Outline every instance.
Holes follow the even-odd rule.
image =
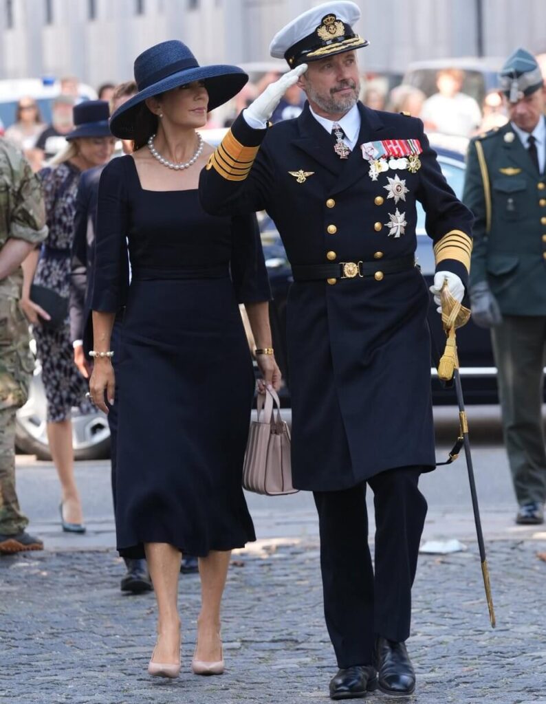
[[[421,467],[400,467],[368,479],[376,512],[375,574],[368,548],[366,483],[316,491],[321,534],[324,613],[337,665],[373,664],[376,635],[405,641],[411,586],[427,503]]]

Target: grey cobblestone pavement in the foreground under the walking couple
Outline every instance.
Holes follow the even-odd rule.
[[[496,541],[490,628],[475,545],[421,555],[409,641],[418,704],[546,704],[546,541]],[[225,593],[223,677],[189,666],[199,578],[180,578],[182,674],[146,673],[154,596],[123,596],[113,551],[0,558],[0,700],[9,704],[325,702],[335,673],[312,541],[261,543],[234,557]],[[374,693],[380,704],[392,699]]]

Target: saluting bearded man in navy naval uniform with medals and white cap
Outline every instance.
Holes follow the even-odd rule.
[[[211,213],[266,209],[292,264],[292,472],[318,510],[325,620],[340,668],[333,699],[415,686],[404,641],[427,508],[417,485],[435,467],[416,201],[433,239],[437,297],[447,281],[461,301],[471,255],[471,213],[445,182],[423,123],[358,101],[356,49],[368,44],[352,30],[359,16],[352,2],[330,2],[278,32],[271,55],[292,70],[235,120],[199,182]],[[302,115],[268,127],[295,82],[308,100]]]

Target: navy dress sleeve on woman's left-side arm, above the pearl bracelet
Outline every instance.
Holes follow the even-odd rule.
[[[117,313],[127,303],[128,199],[122,158],[106,165],[99,182],[91,308]]]

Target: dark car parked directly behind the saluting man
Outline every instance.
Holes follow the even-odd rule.
[[[459,198],[464,186],[464,147],[468,140],[442,135],[430,135],[430,141],[438,153],[438,161],[449,182]],[[263,215],[260,228],[263,239],[263,251],[266,255],[273,303],[271,305],[271,325],[275,356],[283,371],[286,388],[283,389],[283,401],[288,404],[290,398],[290,374],[286,361],[286,301],[287,292],[292,282],[292,272],[287,262],[285,250],[271,218]],[[425,213],[418,203],[417,251],[416,258],[421,272],[430,286],[433,281],[435,263],[432,240],[425,230]],[[438,353],[441,355],[445,343],[440,315],[430,298],[428,312],[430,332]],[[497,370],[492,356],[490,334],[488,330],[474,325],[472,320],[457,334],[461,379],[466,403],[497,403]],[[438,381],[436,370],[431,367],[433,384],[433,401],[435,404],[455,403],[454,392],[444,389]]]

